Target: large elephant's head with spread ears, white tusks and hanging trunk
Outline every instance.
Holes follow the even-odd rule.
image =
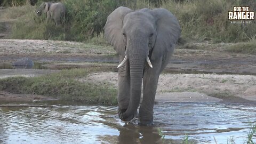
[[[131,97],[119,118],[130,121],[140,103],[143,71],[154,69],[154,61],[171,51],[181,29],[174,15],[165,9],[132,11],[121,6],[108,16],[104,30],[107,41],[124,58],[118,67],[129,61]]]

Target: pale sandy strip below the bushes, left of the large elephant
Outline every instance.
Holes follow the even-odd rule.
[[[74,57],[115,54],[110,46],[95,46],[78,42],[44,41],[31,39],[0,39],[0,55],[4,57],[31,57],[32,59],[47,57]],[[16,59],[17,59],[16,58]],[[15,58],[14,58],[15,59]],[[54,61],[54,60],[52,60]],[[61,61],[61,59],[60,59]]]

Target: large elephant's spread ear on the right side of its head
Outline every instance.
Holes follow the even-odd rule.
[[[151,59],[154,60],[174,50],[181,28],[177,18],[166,9],[154,9],[148,12],[153,15],[156,22],[157,36],[151,55]]]

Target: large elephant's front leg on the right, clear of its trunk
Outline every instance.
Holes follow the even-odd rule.
[[[162,60],[152,62],[153,68],[148,65],[143,74],[143,100],[139,110],[141,125],[153,125],[153,108]]]

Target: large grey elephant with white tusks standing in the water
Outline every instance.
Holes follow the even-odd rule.
[[[160,73],[169,62],[181,33],[179,22],[166,9],[133,11],[118,7],[104,26],[105,39],[119,54],[118,116],[131,121],[139,108],[139,125],[153,125],[153,108]]]

